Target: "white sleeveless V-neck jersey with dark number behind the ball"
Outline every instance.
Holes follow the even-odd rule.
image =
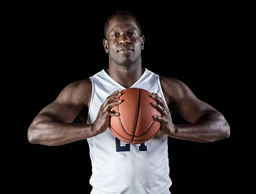
[[[104,69],[92,80],[92,97],[87,123],[93,123],[105,99],[126,88],[113,80]],[[145,69],[131,88],[157,93],[164,101],[159,76]],[[165,102],[166,103],[166,102]],[[169,194],[167,136],[159,132],[143,144],[125,144],[108,128],[87,139],[92,161],[90,184],[93,194]]]

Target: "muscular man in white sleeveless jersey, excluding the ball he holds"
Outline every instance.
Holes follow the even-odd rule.
[[[105,25],[103,45],[109,67],[66,86],[56,100],[38,113],[28,129],[31,144],[59,146],[87,139],[92,161],[91,194],[170,194],[167,137],[213,142],[229,137],[224,116],[198,99],[181,81],[160,77],[141,66],[144,36],[133,15],[119,12]],[[161,130],[143,144],[124,144],[111,133],[110,109],[125,88],[143,88],[152,93],[162,116]],[[190,124],[172,122],[171,107]],[[77,116],[84,123],[72,123]],[[139,177],[139,178],[138,178]]]

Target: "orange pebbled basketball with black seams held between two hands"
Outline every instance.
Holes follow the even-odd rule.
[[[110,109],[120,113],[110,117],[110,131],[126,144],[142,144],[154,138],[161,126],[154,115],[161,116],[161,113],[152,105],[156,102],[152,94],[142,88],[120,92],[122,95],[115,101],[122,100],[122,103]]]

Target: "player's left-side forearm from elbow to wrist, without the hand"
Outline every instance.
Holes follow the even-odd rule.
[[[92,124],[39,122],[28,130],[31,144],[59,146],[97,135]]]

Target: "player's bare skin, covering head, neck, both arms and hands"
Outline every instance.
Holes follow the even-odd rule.
[[[141,50],[144,36],[140,35],[138,26],[128,15],[118,15],[110,20],[107,39],[103,40],[109,55],[109,68],[105,71],[111,78],[125,88],[129,88],[142,75]],[[155,119],[161,122],[161,132],[177,139],[198,142],[213,142],[226,139],[230,127],[224,116],[209,104],[198,99],[181,81],[174,78],[160,78],[167,106],[157,94],[153,104],[162,114]],[[90,106],[92,83],[90,79],[76,81],[66,86],[54,102],[44,107],[34,118],[28,128],[28,141],[32,144],[58,146],[87,139],[104,133],[109,126],[110,116],[119,113],[110,109],[122,102],[114,101],[120,96],[113,92],[100,107],[96,120],[86,124]],[[174,124],[169,110],[175,108],[189,124]],[[84,123],[72,123],[76,117]]]

